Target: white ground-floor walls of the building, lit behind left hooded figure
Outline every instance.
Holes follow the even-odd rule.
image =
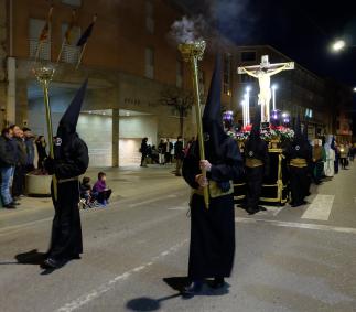
[[[53,132],[56,133],[58,122],[73,98],[73,94],[51,97]],[[144,137],[150,144],[157,144],[158,120],[154,116],[120,117],[119,123],[119,158],[120,165],[140,162],[139,148]],[[46,135],[45,109],[43,99],[29,104],[29,127],[35,135]],[[112,164],[112,118],[82,114],[77,131],[89,149],[90,166],[111,166]],[[47,140],[47,139],[46,139]]]

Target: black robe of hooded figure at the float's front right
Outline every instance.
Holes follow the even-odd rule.
[[[288,162],[292,159],[304,159],[306,166],[289,166],[291,204],[301,205],[310,189],[310,164],[312,160],[312,147],[306,140],[295,140],[285,149]]]

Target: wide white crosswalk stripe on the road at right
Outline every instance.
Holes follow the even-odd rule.
[[[335,195],[317,194],[302,215],[302,218],[328,220],[333,208],[334,198]]]

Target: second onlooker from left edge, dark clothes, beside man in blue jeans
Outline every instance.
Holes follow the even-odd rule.
[[[13,131],[13,144],[15,147],[17,163],[13,174],[12,194],[14,198],[20,198],[24,195],[25,184],[25,166],[28,161],[26,146],[24,143],[23,131],[19,126],[13,125],[10,127]]]

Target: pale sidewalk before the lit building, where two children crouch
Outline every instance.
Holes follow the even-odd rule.
[[[184,190],[186,185],[183,179],[174,176],[171,173],[173,169],[173,165],[90,168],[85,175],[91,179],[93,185],[97,180],[98,172],[106,172],[107,184],[112,190],[111,202],[139,201],[140,198],[144,200],[147,194],[160,196],[160,194],[168,194],[177,189]],[[0,208],[0,228],[52,215],[53,205],[50,197],[23,197],[21,205],[14,211]]]

